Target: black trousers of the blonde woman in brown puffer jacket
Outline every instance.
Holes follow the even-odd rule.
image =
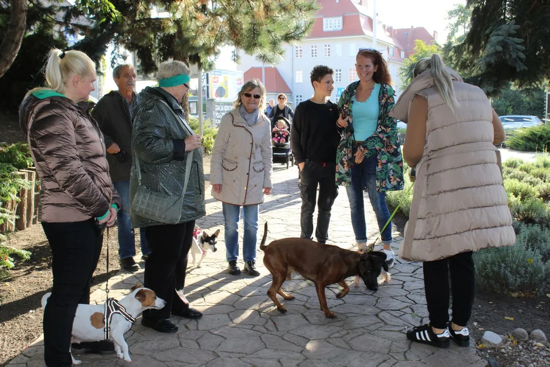
[[[48,367],[70,367],[70,338],[79,303],[90,303],[90,281],[103,236],[93,219],[42,223],[52,249],[53,287],[44,310],[44,360]]]

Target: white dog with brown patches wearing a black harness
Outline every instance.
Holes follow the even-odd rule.
[[[155,292],[149,288],[143,288],[142,284],[136,284],[131,288],[132,293],[118,301],[128,314],[138,317],[143,311],[153,308],[161,309],[166,305],[166,301],[158,298]],[[42,297],[42,308],[45,308],[48,298],[52,293],[46,293]],[[86,305],[79,304],[76,308],[76,315],[73,321],[73,334],[71,343],[94,342],[105,339],[105,305]],[[128,353],[128,344],[124,340],[124,333],[130,330],[132,323],[125,319],[120,314],[113,314],[110,327],[111,333],[109,339],[114,342],[114,349],[120,359],[131,362],[130,354]],[[70,351],[70,347],[69,347]],[[80,360],[73,358],[73,364],[80,364]]]

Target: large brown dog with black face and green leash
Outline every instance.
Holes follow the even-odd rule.
[[[306,238],[284,238],[274,240],[266,246],[267,222],[264,227],[260,250],[264,252],[263,264],[271,272],[273,282],[267,295],[281,313],[287,309],[277,300],[277,293],[286,299],[294,299],[293,295],[283,292],[281,288],[285,278],[293,271],[315,283],[321,311],[326,317],[334,319],[336,314],[328,309],[324,288],[329,284],[338,283],[343,289],[336,295],[342,298],[348,294],[349,287],[345,278],[359,275],[371,291],[378,290],[377,278],[382,268],[388,271],[386,254],[372,251],[360,254],[345,250],[338,246],[321,244]]]

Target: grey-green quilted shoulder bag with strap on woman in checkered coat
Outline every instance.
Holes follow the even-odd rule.
[[[179,116],[168,106],[168,103],[163,102],[172,111],[174,116],[178,119],[178,122],[182,125],[184,130],[188,130],[193,134],[193,130],[179,118]],[[183,208],[183,196],[187,189],[187,183],[189,182],[189,175],[191,173],[191,165],[193,164],[194,150],[190,151],[187,155],[187,161],[185,165],[185,180],[183,185],[183,191],[181,196],[171,196],[157,191],[147,189],[141,184],[141,169],[139,165],[138,155],[135,155],[136,168],[138,170],[138,191],[134,195],[134,200],[130,205],[130,211],[137,216],[147,218],[156,222],[164,224],[177,224],[182,218]]]

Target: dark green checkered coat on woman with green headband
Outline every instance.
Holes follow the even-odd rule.
[[[202,171],[202,148],[185,152],[174,159],[174,139],[185,139],[189,132],[175,118],[161,100],[180,117],[183,109],[172,95],[160,87],[147,87],[140,93],[141,101],[135,112],[132,132],[133,163],[130,173],[130,203],[138,190],[138,173],[135,157],[140,161],[141,184],[146,188],[168,195],[182,194],[185,180],[185,165],[188,154],[193,154],[189,183],[180,223],[194,221],[206,215],[205,179]],[[163,223],[131,214],[132,228],[157,226]]]

